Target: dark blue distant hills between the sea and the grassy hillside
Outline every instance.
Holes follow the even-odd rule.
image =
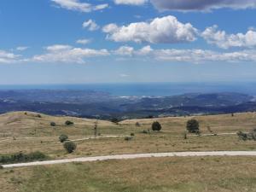
[[[133,119],[256,111],[256,101],[254,96],[240,93],[122,97],[94,90],[1,90],[0,113],[10,111]]]

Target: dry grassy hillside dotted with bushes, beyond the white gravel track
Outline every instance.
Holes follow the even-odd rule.
[[[52,158],[76,157],[103,154],[134,154],[172,151],[205,151],[205,150],[256,150],[255,142],[240,141],[236,135],[215,137],[192,137],[183,139],[185,124],[191,117],[162,119],[132,119],[119,125],[108,121],[99,121],[98,127],[102,135],[129,135],[134,132],[130,142],[119,138],[101,138],[76,142],[77,151],[66,154],[58,137],[65,133],[71,139],[91,137],[94,119],[78,119],[69,117],[52,117],[38,113],[17,112],[0,115],[0,154],[15,152],[42,151]],[[215,133],[249,131],[256,127],[256,113],[236,113],[195,117],[200,121],[203,133],[209,133],[207,126]],[[74,125],[67,126],[69,119]],[[163,130],[160,133],[143,134],[141,131],[150,129],[154,120],[160,121]],[[49,125],[54,121],[57,125]],[[136,127],[136,122],[141,124]],[[15,140],[13,137],[15,136]]]

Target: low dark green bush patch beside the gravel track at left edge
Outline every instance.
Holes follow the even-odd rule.
[[[46,159],[48,159],[48,157],[39,151],[30,154],[20,152],[18,154],[0,155],[0,163],[19,163]]]

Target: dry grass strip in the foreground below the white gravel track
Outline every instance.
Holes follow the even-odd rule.
[[[148,158],[0,171],[0,191],[255,192],[255,158]]]

